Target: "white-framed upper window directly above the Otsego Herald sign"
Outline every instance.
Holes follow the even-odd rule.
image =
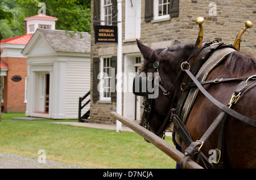
[[[105,5],[105,1],[108,1],[108,4]],[[113,15],[110,8],[112,5],[113,5],[112,0],[101,0],[101,21],[102,21],[101,25],[112,25],[111,21],[112,21]],[[104,22],[104,21],[110,21],[110,22]]]

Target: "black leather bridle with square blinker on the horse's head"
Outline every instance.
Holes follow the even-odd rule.
[[[189,70],[191,67],[191,62],[192,60],[195,58],[195,56],[205,47],[212,45],[213,43],[219,43],[217,40],[213,40],[213,41],[206,41],[203,42],[203,44],[201,44],[201,46],[199,48],[196,48],[198,42],[196,42],[195,44],[195,48],[193,50],[193,52],[189,55],[187,61],[184,61],[183,63],[181,63],[181,69],[179,71],[179,74],[177,75],[174,83],[169,87],[169,88],[165,88],[164,87],[164,83],[161,81],[160,75],[159,75],[159,66],[160,66],[160,62],[161,60],[158,61],[158,59],[161,59],[163,57],[163,55],[167,52],[167,48],[163,49],[160,53],[159,53],[159,58],[156,59],[156,61],[154,63],[148,63],[147,67],[142,68],[141,71],[139,71],[137,73],[137,77],[135,78],[140,78],[141,76],[139,76],[139,74],[145,70],[147,70],[148,68],[154,68],[155,72],[156,72],[156,79],[159,80],[158,83],[155,83],[155,85],[157,84],[159,86],[160,89],[162,89],[163,91],[163,95],[165,97],[168,98],[168,100],[171,102],[170,103],[170,107],[166,117],[164,118],[164,121],[162,123],[162,125],[159,127],[158,131],[154,132],[156,135],[158,135],[160,138],[164,138],[164,129],[167,127],[168,123],[170,123],[170,117],[171,117],[171,113],[172,110],[176,108],[176,104],[177,101],[175,101],[175,99],[179,99],[179,97],[181,96],[181,93],[183,92],[183,87],[182,85],[184,85],[186,80],[185,77],[185,69],[187,68],[187,70]],[[149,74],[150,76],[154,77],[154,75]],[[147,78],[148,81],[151,81],[150,79]],[[137,95],[136,92],[133,92],[134,95]],[[143,110],[143,115],[142,118],[144,118],[144,128],[146,128],[147,130],[150,130],[150,126],[149,126],[149,119],[150,119],[150,114],[151,114],[151,109],[152,109],[152,98],[148,98],[147,95],[149,93],[147,93],[146,95],[143,95],[144,97],[146,97],[146,100],[143,101],[143,105],[144,105],[144,110]],[[138,95],[138,96],[142,96],[142,95]]]

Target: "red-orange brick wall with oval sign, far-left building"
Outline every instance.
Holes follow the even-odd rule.
[[[26,112],[25,78],[27,76],[27,58],[1,58],[1,61],[8,65],[7,76],[5,77],[3,89],[2,109],[5,113],[24,113]],[[19,75],[22,80],[14,82],[11,77]]]

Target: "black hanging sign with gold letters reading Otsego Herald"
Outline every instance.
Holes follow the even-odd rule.
[[[96,25],[95,27],[96,44],[117,44],[116,25]]]

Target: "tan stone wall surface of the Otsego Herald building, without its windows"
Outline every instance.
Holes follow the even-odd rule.
[[[202,16],[205,19],[203,24],[204,40],[218,38],[218,40],[226,44],[234,43],[238,32],[245,26],[246,20],[253,22],[254,27],[248,29],[249,36],[242,37],[241,50],[256,55],[256,0],[180,0],[179,16],[158,23],[144,22],[145,2],[143,0],[141,2],[141,41],[152,49],[170,46],[174,40],[179,40],[181,43],[195,42],[199,32],[199,26],[195,23],[195,19]],[[209,10],[212,8],[212,6],[209,7],[211,2],[216,3],[216,16],[209,15]],[[93,19],[93,1],[91,1],[91,6],[91,18]],[[125,37],[125,1],[122,1],[122,22],[123,40]],[[91,30],[91,77],[93,77],[93,58],[108,55],[108,53],[109,55],[117,55],[117,45],[95,44],[93,23],[91,24]],[[122,45],[124,53],[127,49],[136,46],[136,42],[122,42]],[[91,80],[91,92],[92,83],[93,79]],[[110,117],[110,112],[112,111],[115,111],[115,102],[112,104],[102,104],[91,99],[90,118],[93,122],[115,123],[115,120]]]

